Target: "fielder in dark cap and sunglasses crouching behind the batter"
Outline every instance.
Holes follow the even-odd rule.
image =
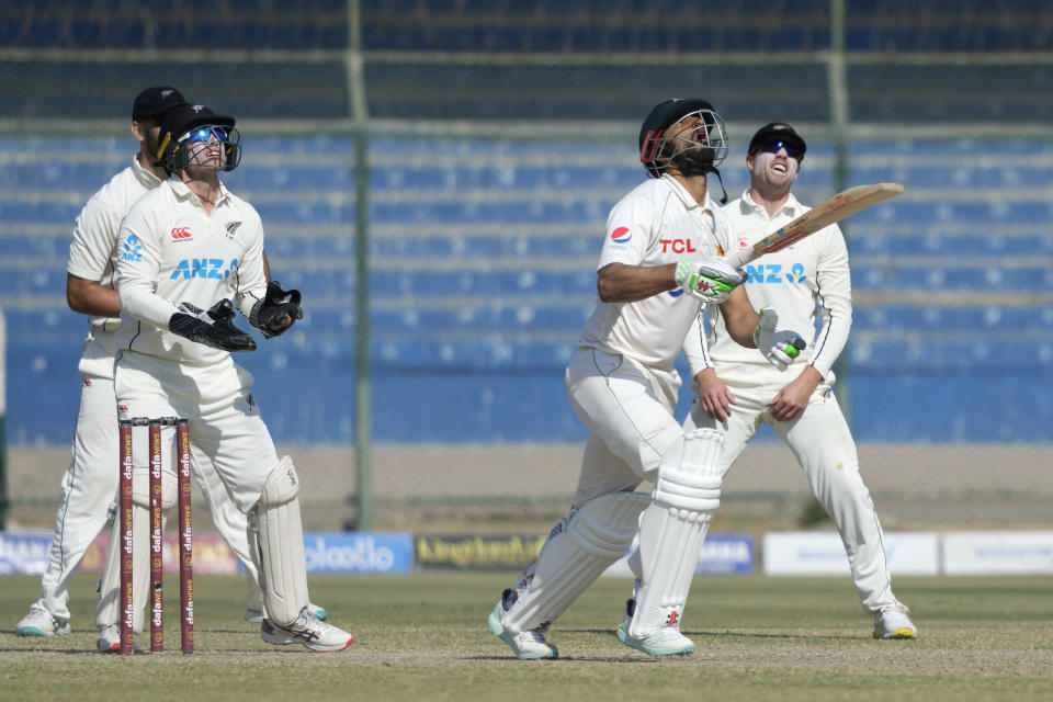
[[[783,123],[767,124],[754,135],[746,157],[749,189],[724,208],[738,234],[737,247],[752,246],[809,210],[790,192],[805,149],[804,139]],[[765,363],[735,343],[723,310],[711,310],[710,362],[694,375],[699,401],[684,428],[718,431],[729,468],[760,424],[771,424],[837,524],[863,610],[874,618],[873,636],[915,638],[907,608],[892,592],[881,524],[833,390],[834,363],[852,324],[848,248],[840,228],[831,225],[768,253],[748,272],[750,302],[778,307],[791,329],[815,329],[816,306],[822,308],[812,353],[789,367]],[[701,339],[692,341],[701,346]]]

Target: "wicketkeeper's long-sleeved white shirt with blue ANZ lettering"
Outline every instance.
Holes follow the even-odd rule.
[[[260,215],[223,185],[210,215],[185,183],[168,179],[128,212],[117,248],[118,349],[195,365],[222,361],[228,352],[168,330],[177,306],[208,309],[227,298],[248,317],[267,291]]]

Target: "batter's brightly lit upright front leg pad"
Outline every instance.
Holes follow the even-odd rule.
[[[698,429],[670,446],[639,519],[639,582],[629,633],[678,626],[713,512],[721,505],[724,435]]]

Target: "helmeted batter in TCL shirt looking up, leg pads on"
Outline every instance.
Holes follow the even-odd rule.
[[[659,103],[644,121],[639,148],[653,180],[610,213],[599,302],[566,373],[570,403],[590,430],[574,503],[488,620],[518,658],[557,657],[545,639],[550,624],[626,553],[637,531],[637,587],[618,637],[653,656],[694,650],[680,619],[720,505],[723,438],[712,429],[686,432],[673,418],[673,362],[689,330],[700,336],[706,304],[721,306],[738,343],[773,362],[789,362],[804,346],[774,329],[773,316],[758,315],[738,286],[744,275],[715,258],[734,238],[706,188],[706,173],[727,155],[712,105]],[[704,362],[703,353],[689,356],[693,372]],[[654,483],[652,495],[633,491],[643,479]]]

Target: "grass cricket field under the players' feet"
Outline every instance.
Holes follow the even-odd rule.
[[[314,577],[312,599],[356,641],[310,654],[269,646],[241,621],[240,578],[199,576],[197,653],[122,658],[93,653],[91,577],[75,580],[73,634],[47,639],[12,633],[39,578],[7,576],[0,700],[1053,699],[1053,578],[899,578],[915,642],[871,639],[848,579],[700,578],[683,620],[698,653],[668,660],[618,643],[630,585],[603,579],[553,629],[553,661],[514,660],[486,629],[512,579]],[[178,649],[171,615],[166,637]]]

